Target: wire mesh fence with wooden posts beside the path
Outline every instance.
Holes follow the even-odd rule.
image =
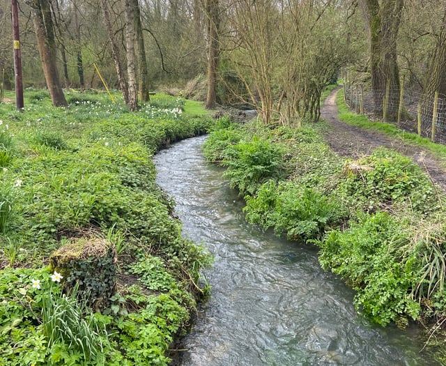
[[[420,91],[391,89],[372,92],[363,83],[344,84],[345,101],[371,120],[394,123],[399,128],[446,144],[446,98],[426,98]]]

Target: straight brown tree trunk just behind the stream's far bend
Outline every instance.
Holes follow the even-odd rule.
[[[208,94],[206,108],[217,104],[217,69],[220,58],[219,26],[220,15],[218,0],[205,0],[206,30],[208,32]]]

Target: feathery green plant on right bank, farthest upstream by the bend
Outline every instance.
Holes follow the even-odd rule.
[[[222,164],[228,169],[224,176],[240,195],[253,195],[264,182],[282,174],[282,153],[279,145],[256,136],[248,142],[241,141],[233,146],[231,153],[227,154],[226,149]]]

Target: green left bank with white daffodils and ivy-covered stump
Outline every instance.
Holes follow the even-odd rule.
[[[214,122],[180,98],[130,114],[114,96],[0,105],[1,365],[167,365],[206,295],[210,256],[180,235],[151,156]]]

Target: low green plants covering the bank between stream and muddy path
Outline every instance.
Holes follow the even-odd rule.
[[[389,149],[340,158],[323,142],[326,128],[230,125],[211,133],[204,153],[228,167],[246,219],[320,247],[321,265],[357,291],[366,317],[401,327],[443,321],[443,191]]]

